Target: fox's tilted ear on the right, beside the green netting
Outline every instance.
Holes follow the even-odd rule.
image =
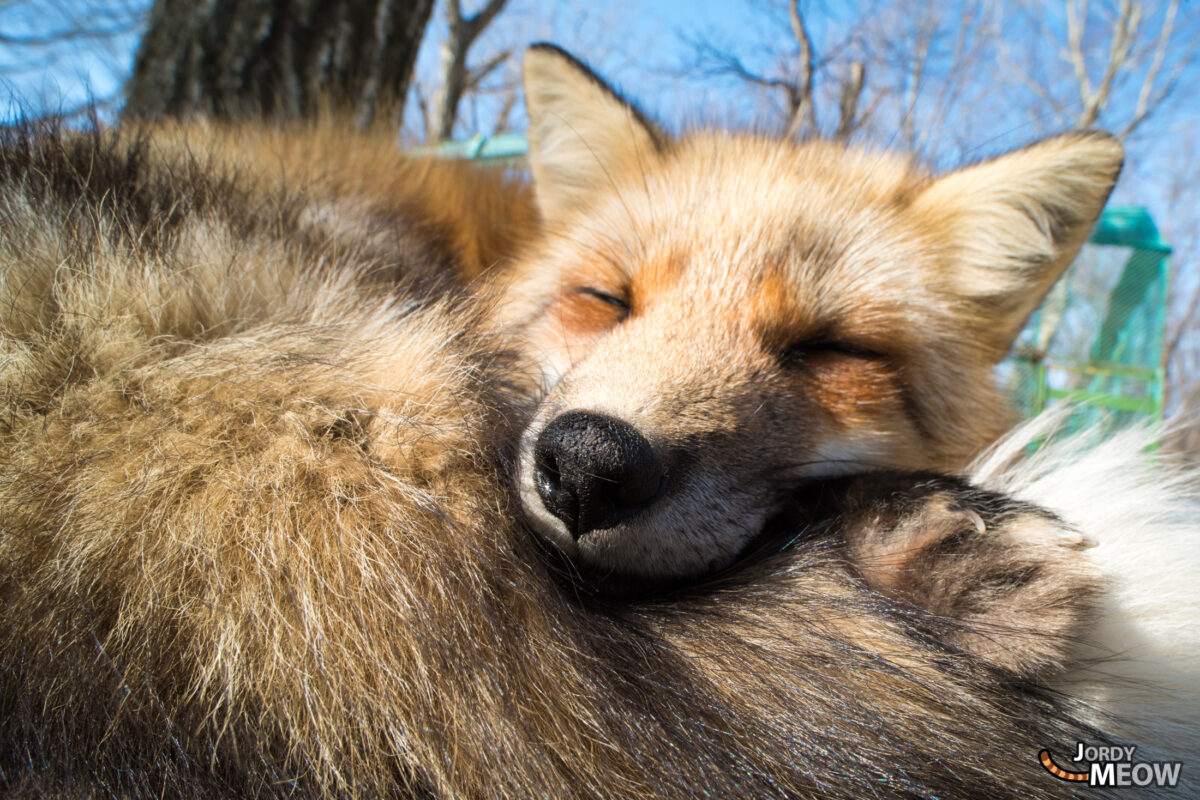
[[[1123,161],[1114,137],[1068,133],[943,175],[916,199],[950,247],[943,289],[967,301],[971,335],[997,361],[1084,245]]]

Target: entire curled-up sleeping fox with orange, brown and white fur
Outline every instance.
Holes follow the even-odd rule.
[[[1044,748],[1194,745],[1186,475],[912,471],[1001,429],[1115,144],[934,180],[671,142],[553,49],[527,91],[536,206],[390,134],[0,132],[0,796],[1057,798]]]

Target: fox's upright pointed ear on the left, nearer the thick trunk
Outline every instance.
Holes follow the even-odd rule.
[[[598,188],[655,157],[661,134],[590,70],[553,44],[524,56],[529,162],[542,218],[562,219]]]

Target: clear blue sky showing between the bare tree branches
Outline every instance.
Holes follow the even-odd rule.
[[[468,8],[481,2],[464,1]],[[121,5],[134,11],[144,10],[150,0],[17,0],[0,5],[0,32],[11,37],[44,36],[70,26],[72,20],[59,13],[61,8]],[[906,5],[902,0],[809,0],[804,7],[818,55],[828,56],[828,50],[839,41],[836,31],[845,30],[847,20],[856,16],[860,22],[869,22],[872,17],[894,13],[898,7],[904,7],[904,13],[911,16],[911,10],[920,5]],[[961,5],[961,0],[926,5],[953,11]],[[1037,10],[1039,4],[996,4],[1002,10],[1009,6]],[[510,0],[492,29],[479,41],[476,58],[486,58],[490,50],[500,48],[518,50],[529,41],[556,41],[592,62],[668,127],[696,120],[748,124],[761,121],[763,114],[768,114],[770,92],[748,90],[727,77],[697,74],[694,44],[698,40],[710,41],[737,52],[748,66],[768,71],[780,60],[779,54],[792,47],[785,7],[782,0]],[[1050,8],[1050,5],[1045,7]],[[953,13],[947,16],[953,18]],[[1006,11],[996,18],[1001,24],[1013,25],[1019,17],[1018,12]],[[1061,14],[1046,12],[1040,24],[1061,28]],[[437,42],[444,36],[444,30],[438,8],[418,67],[419,82],[426,90],[434,80]],[[1104,44],[1097,41],[1094,50],[1103,54]],[[70,110],[90,100],[119,98],[121,83],[132,67],[136,46],[136,34],[104,41],[79,40],[40,49],[0,44],[0,80],[4,82],[0,92],[14,98],[10,109],[23,107],[35,112]],[[1046,47],[1034,47],[1021,56],[1031,64],[1057,60],[1057,55]],[[514,58],[508,67],[508,76],[515,70],[516,60]],[[1200,72],[1200,65],[1192,65],[1189,72]],[[497,76],[497,79],[508,76]],[[1002,85],[1001,78],[1006,77],[1010,78],[995,76],[994,94],[1013,95],[1020,91],[1020,86],[1012,80]],[[869,84],[878,80],[880,72],[872,67]],[[1193,80],[1190,88],[1200,90],[1200,83]],[[1069,104],[1070,98],[1066,100]],[[493,122],[484,113],[490,108],[488,101],[485,98],[476,103],[481,106],[463,109],[464,133],[472,132],[468,130],[472,127],[487,128]],[[984,126],[980,137],[976,137],[977,144],[983,134],[996,136],[1007,127],[1024,126],[1032,137],[1048,132],[1057,122],[1050,120],[1043,125],[1044,120],[1036,114],[1013,114],[1010,109],[1002,108],[992,108],[989,114],[994,125]],[[1008,137],[1001,139],[997,146],[1010,144]]]

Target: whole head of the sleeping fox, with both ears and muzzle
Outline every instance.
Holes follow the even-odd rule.
[[[545,393],[517,491],[568,555],[641,577],[727,565],[804,482],[962,468],[1010,422],[994,367],[1122,166],[1093,132],[936,178],[672,138],[548,46],[524,89],[545,240],[504,305]]]

